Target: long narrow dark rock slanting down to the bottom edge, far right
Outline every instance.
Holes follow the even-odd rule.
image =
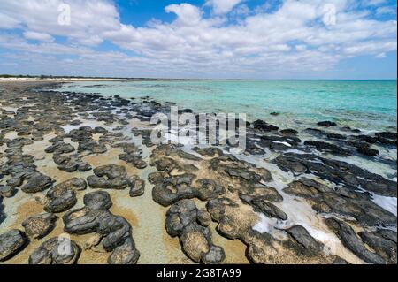
[[[340,238],[343,245],[353,252],[356,256],[364,260],[366,263],[385,264],[385,260],[376,253],[368,250],[364,243],[356,235],[356,232],[346,223],[336,218],[325,219],[325,224],[328,225],[333,232]]]

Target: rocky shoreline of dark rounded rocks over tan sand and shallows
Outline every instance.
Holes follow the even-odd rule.
[[[241,155],[154,145],[172,103],[58,86],[0,84],[0,262],[397,263],[396,133],[257,120]]]

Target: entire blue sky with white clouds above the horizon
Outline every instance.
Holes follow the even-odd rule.
[[[396,0],[1,0],[0,73],[396,79]]]

